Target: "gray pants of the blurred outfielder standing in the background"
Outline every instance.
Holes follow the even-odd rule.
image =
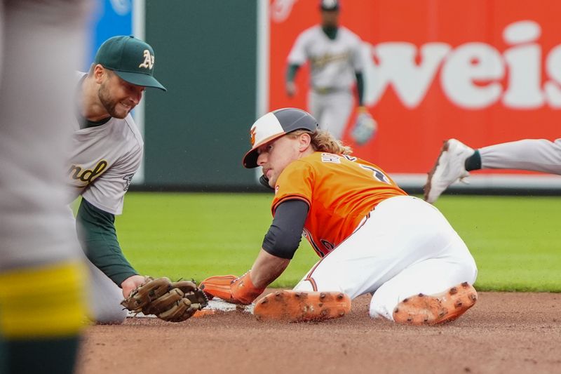
[[[353,105],[353,95],[348,90],[331,93],[310,90],[308,93],[310,114],[318,121],[321,130],[329,131],[339,140],[343,137]]]

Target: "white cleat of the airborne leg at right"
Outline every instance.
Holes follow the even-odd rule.
[[[428,173],[426,185],[423,187],[425,200],[434,203],[438,196],[452,185],[452,183],[469,176],[466,171],[466,159],[475,152],[472,148],[456,139],[444,142],[440,156],[436,160],[433,170]]]

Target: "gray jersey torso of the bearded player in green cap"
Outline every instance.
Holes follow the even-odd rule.
[[[130,114],[82,129],[76,120],[67,172],[72,198],[81,194],[96,208],[121,214],[125,193],[142,161],[143,147]]]

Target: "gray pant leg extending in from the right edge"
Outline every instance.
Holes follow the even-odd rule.
[[[561,138],[525,139],[479,149],[483,169],[520,169],[561,175]]]

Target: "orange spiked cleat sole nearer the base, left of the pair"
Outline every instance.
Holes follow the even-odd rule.
[[[351,311],[351,298],[341,292],[280,290],[257,301],[258,321],[305,322],[341,318]]]

